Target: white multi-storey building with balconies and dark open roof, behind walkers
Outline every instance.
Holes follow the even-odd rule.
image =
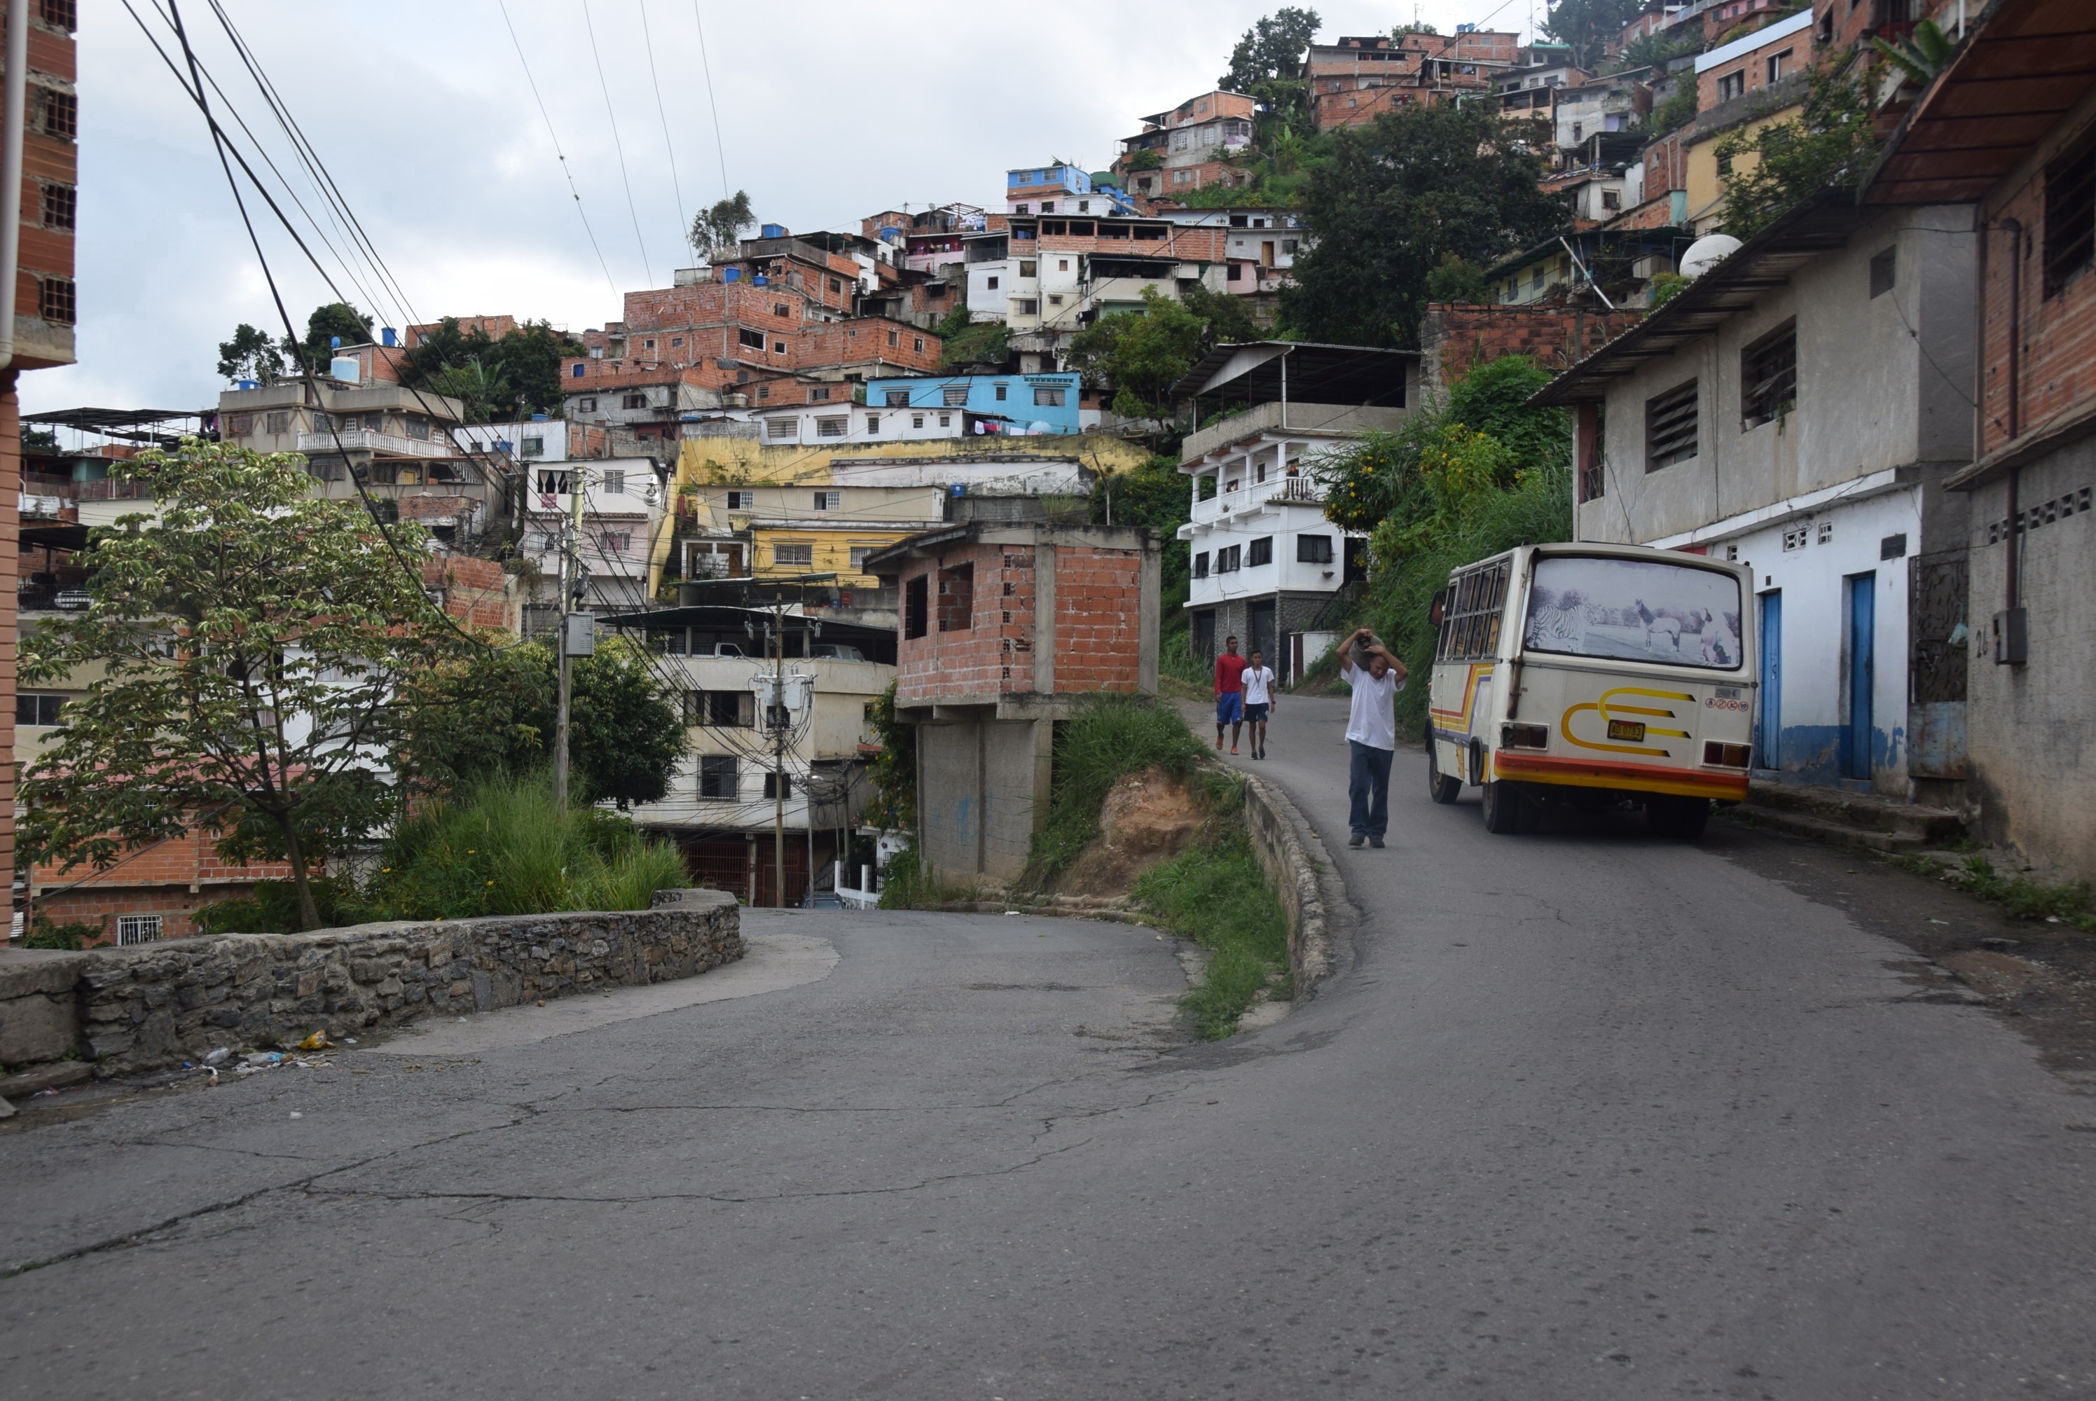
[[[1186,436],[1195,654],[1226,638],[1291,677],[1331,646],[1335,604],[1364,577],[1364,535],[1325,518],[1318,459],[1417,403],[1419,352],[1256,342],[1218,346],[1176,386],[1197,405],[1243,411]]]

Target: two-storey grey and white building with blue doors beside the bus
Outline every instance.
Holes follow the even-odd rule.
[[[1813,201],[1541,396],[1578,411],[1578,539],[1752,564],[1763,778],[1956,801],[1964,703],[1916,703],[1909,663],[1958,619],[1909,604],[1945,575],[1962,612],[1970,229]]]

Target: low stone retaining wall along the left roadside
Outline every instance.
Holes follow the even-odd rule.
[[[0,1061],[75,1044],[99,1074],[526,1000],[692,977],[744,952],[736,898],[667,889],[652,910],[222,933],[80,954],[0,954]]]

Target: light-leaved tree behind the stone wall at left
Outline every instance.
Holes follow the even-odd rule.
[[[21,852],[111,866],[197,826],[226,860],[308,872],[394,810],[396,696],[463,640],[354,501],[310,495],[302,459],[226,443],[111,464],[151,478],[159,516],[124,516],[92,549],[88,608],[23,638],[23,680],[101,673],[31,763]],[[394,526],[407,560],[421,526]]]

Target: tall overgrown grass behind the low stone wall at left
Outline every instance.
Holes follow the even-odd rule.
[[[683,856],[648,841],[627,818],[553,805],[543,774],[490,778],[449,803],[400,822],[379,870],[356,889],[314,881],[329,925],[384,919],[470,919],[553,910],[646,910],[658,889],[690,885]],[[210,933],[298,929],[285,881],[260,881],[254,896],[199,910]]]

